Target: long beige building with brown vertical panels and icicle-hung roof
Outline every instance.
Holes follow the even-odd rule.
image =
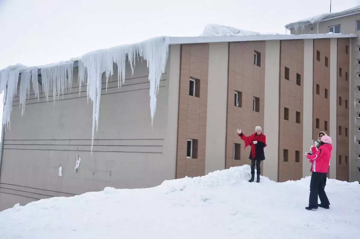
[[[349,107],[354,105],[348,84],[353,77],[349,51],[353,37],[357,35],[169,37],[116,48],[113,53],[91,53],[64,67],[22,69],[17,94],[16,84],[9,82],[17,81],[19,69],[0,72],[0,85],[8,82],[5,122],[13,106],[11,130],[5,132],[0,157],[0,210],[106,186],[152,187],[164,180],[249,164],[250,149],[244,149],[236,129],[249,135],[257,125],[267,138],[264,176],[279,182],[309,176],[311,164],[303,155],[317,133],[325,130],[333,139],[333,152],[343,157],[342,164],[330,164],[329,177],[348,181],[348,142],[354,130],[349,124]],[[149,65],[136,62],[131,74],[129,62],[119,60],[117,64],[126,63],[125,75],[117,72],[125,68],[116,65],[111,81],[101,75],[111,72],[113,54],[124,57],[124,52],[144,46],[148,48],[140,52],[148,54]],[[128,59],[134,60],[131,54]],[[152,84],[161,73],[156,67],[164,63],[162,59],[166,66],[152,124],[149,89],[153,99]],[[87,87],[77,83],[84,66]],[[35,79],[32,85],[30,75]],[[125,80],[120,89],[118,76]],[[62,84],[59,79],[67,81]],[[71,86],[71,79],[72,88],[62,97],[56,91]],[[44,93],[38,98],[36,89],[41,87]],[[22,115],[18,108],[29,88]],[[54,96],[49,93],[52,89]],[[150,105],[152,111],[153,101]],[[94,143],[92,115],[99,122]],[[331,162],[336,158],[333,153]]]

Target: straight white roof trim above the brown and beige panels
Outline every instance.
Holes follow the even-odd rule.
[[[169,43],[170,45],[176,45],[176,44],[235,42],[235,41],[301,40],[301,39],[349,38],[349,37],[357,37],[357,34],[170,37]]]

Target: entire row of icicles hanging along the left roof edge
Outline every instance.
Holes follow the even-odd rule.
[[[80,58],[73,58],[67,62],[59,62],[40,67],[26,67],[24,65],[9,66],[0,70],[0,92],[4,90],[4,116],[3,124],[8,124],[10,128],[10,115],[12,112],[12,103],[17,93],[17,85],[20,79],[20,107],[22,114],[25,110],[26,96],[30,93],[30,82],[35,93],[35,97],[39,99],[39,85],[37,84],[38,69],[41,70],[42,92],[49,100],[50,92],[52,92],[54,104],[59,99],[60,93],[63,95],[67,90],[71,90],[73,82],[74,62],[78,61],[79,67],[79,90],[82,83],[87,80],[86,92],[88,99],[93,105],[93,128],[91,150],[93,149],[95,124],[98,130],[99,107],[101,96],[102,75],[105,73],[106,83],[109,76],[113,75],[113,64],[116,63],[118,68],[118,87],[125,83],[125,65],[128,59],[132,74],[134,73],[135,58],[147,61],[149,69],[150,82],[150,112],[153,123],[156,111],[156,96],[159,91],[161,75],[165,73],[165,66],[168,57],[169,38],[156,37],[140,43],[121,45],[110,49],[96,50],[84,54]],[[120,84],[121,81],[121,84]],[[106,84],[107,87],[107,84]],[[79,92],[80,93],[80,92]],[[80,96],[80,95],[79,95]]]

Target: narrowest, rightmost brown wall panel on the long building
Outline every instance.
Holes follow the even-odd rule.
[[[346,53],[346,45],[348,46],[348,53]],[[342,68],[342,76],[339,76],[339,67]],[[345,100],[349,102],[349,67],[350,67],[350,41],[348,38],[338,39],[337,46],[337,160],[336,160],[336,178],[342,181],[349,181],[349,109],[345,108]],[[346,81],[345,75],[348,74]],[[342,98],[342,104],[339,105],[339,97]],[[339,125],[342,128],[341,135],[339,135]],[[345,136],[345,128],[348,130],[348,135]],[[341,155],[342,162],[339,164],[339,155]],[[347,164],[345,164],[345,156],[347,156]],[[334,162],[333,162],[334,163]]]

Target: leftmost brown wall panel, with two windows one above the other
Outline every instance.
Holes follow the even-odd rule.
[[[176,178],[205,173],[208,61],[208,44],[181,45]],[[189,96],[190,77],[199,80],[199,97]],[[186,158],[187,139],[198,140],[197,159]]]

